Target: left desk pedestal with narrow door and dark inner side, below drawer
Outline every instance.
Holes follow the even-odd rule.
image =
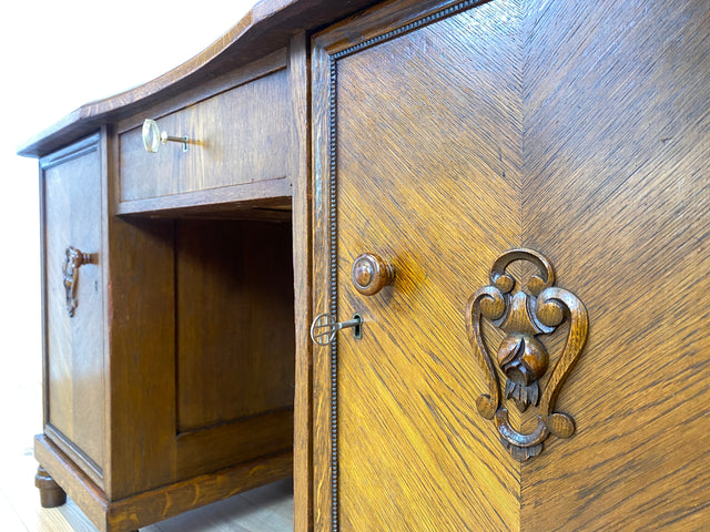
[[[36,456],[124,531],[292,474],[294,291],[281,214],[111,216],[115,142],[104,127],[40,160]]]

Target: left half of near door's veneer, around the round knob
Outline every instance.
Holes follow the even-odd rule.
[[[337,344],[342,530],[519,528],[519,463],[477,419],[483,381],[463,326],[496,250],[520,239],[520,86],[497,75],[519,68],[520,42],[489,22],[516,9],[491,2],[338,59],[336,108],[316,110],[321,123],[336,112],[338,319],[364,319],[362,340],[343,331]],[[341,34],[374,37],[379,23],[358,19],[315,45],[336,53]],[[323,64],[314,81],[333,98]],[[394,287],[357,294],[351,265],[364,252],[393,265]],[[316,395],[328,369],[317,378]],[[316,482],[329,484],[325,462]]]

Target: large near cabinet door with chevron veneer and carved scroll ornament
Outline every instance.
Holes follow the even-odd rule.
[[[442,3],[314,43],[316,530],[700,530],[710,4]]]

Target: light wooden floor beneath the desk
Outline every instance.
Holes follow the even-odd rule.
[[[0,374],[0,531],[97,532],[68,500],[58,509],[42,509],[34,488],[37,462],[32,437],[41,431],[41,368],[3,354]],[[141,532],[283,532],[293,531],[293,489],[290,480],[233,497],[176,518],[141,529]]]

